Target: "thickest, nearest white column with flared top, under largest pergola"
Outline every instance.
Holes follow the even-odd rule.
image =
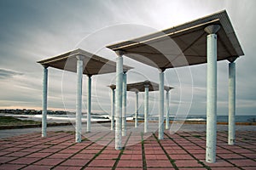
[[[206,161],[216,161],[217,135],[217,35],[218,25],[207,26],[207,153]]]

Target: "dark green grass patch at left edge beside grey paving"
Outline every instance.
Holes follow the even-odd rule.
[[[32,120],[20,120],[12,116],[0,116],[0,126],[38,125],[41,122]]]

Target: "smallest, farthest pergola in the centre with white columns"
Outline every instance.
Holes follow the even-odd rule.
[[[111,130],[114,129],[114,97],[115,97],[115,85],[110,85],[109,88],[112,89],[112,99],[111,99]],[[138,126],[138,93],[139,92],[145,92],[144,96],[144,133],[148,132],[148,92],[152,91],[158,91],[159,90],[159,84],[155,82],[150,82],[148,80],[144,82],[135,82],[135,83],[129,83],[125,86],[123,86],[123,92],[125,91],[131,91],[135,92],[136,94],[136,101],[135,101],[135,123],[134,127]],[[169,129],[169,116],[170,116],[170,109],[169,109],[169,92],[172,89],[171,87],[164,87],[166,90],[166,129]],[[123,93],[124,94],[124,93]],[[123,96],[123,111],[122,111],[122,136],[126,135],[126,93]],[[161,120],[164,122],[164,120]],[[163,125],[163,124],[160,124]],[[117,127],[119,128],[119,127]]]

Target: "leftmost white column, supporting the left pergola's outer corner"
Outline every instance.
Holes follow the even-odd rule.
[[[43,77],[43,102],[42,102],[42,137],[47,136],[46,127],[47,127],[47,86],[48,86],[48,66],[43,65],[44,67],[44,77]]]

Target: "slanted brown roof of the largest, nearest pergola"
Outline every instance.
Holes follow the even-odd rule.
[[[174,26],[164,31],[109,45],[114,51],[160,69],[207,63],[207,32],[219,25],[218,60],[234,61],[244,55],[226,11]],[[177,48],[178,47],[178,48]]]

